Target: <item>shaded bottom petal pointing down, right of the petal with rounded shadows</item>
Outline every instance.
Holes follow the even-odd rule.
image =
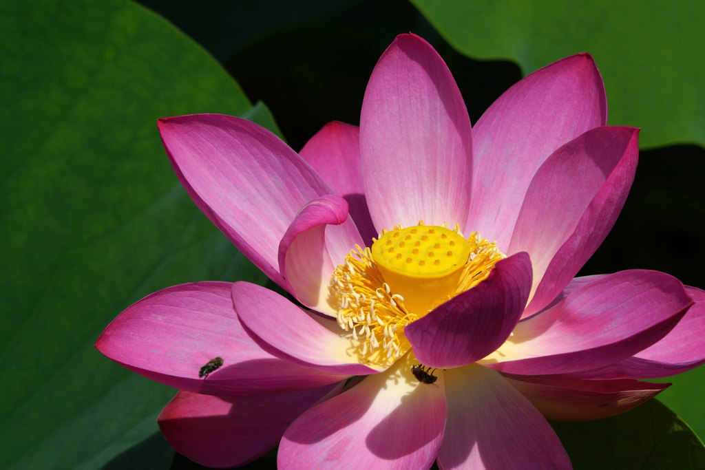
[[[445,375],[442,470],[571,468],[548,421],[498,373],[471,364]]]

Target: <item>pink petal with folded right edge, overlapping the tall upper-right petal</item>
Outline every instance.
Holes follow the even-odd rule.
[[[637,170],[638,132],[589,130],[553,152],[534,176],[509,248],[529,253],[534,267],[524,316],[546,307],[611,230]]]

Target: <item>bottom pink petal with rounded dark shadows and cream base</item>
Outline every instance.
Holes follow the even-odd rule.
[[[384,373],[302,414],[286,430],[280,469],[428,469],[443,439],[443,373],[411,373],[407,354]]]

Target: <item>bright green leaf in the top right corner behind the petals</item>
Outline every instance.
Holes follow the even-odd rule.
[[[611,125],[643,128],[644,147],[705,144],[701,1],[411,1],[458,51],[517,61],[524,73],[590,52]]]

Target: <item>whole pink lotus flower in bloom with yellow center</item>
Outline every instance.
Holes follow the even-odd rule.
[[[637,166],[637,129],[606,116],[578,54],[471,132],[441,57],[401,35],[360,128],[326,125],[300,154],[240,118],[161,119],[194,202],[291,297],[169,287],[97,347],[180,389],[159,426],[201,464],[278,444],[284,469],[569,468],[545,417],[624,412],[668,385],[635,378],[704,361],[704,292],[655,271],[573,278]]]

